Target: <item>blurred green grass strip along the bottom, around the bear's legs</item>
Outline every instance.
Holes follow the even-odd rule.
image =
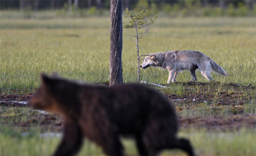
[[[51,155],[58,146],[61,138],[55,136],[41,137],[39,130],[29,132],[1,127],[0,142],[2,156],[15,155]],[[186,129],[179,132],[179,137],[191,140],[196,152],[200,155],[244,155],[256,153],[256,131],[242,129],[236,132],[208,132],[207,130]],[[137,155],[133,140],[123,139],[125,153]],[[78,155],[103,155],[95,144],[85,140]],[[162,155],[185,155],[180,150],[165,150]]]

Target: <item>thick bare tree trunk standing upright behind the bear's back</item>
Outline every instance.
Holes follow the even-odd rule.
[[[111,0],[110,86],[122,84],[122,1]]]

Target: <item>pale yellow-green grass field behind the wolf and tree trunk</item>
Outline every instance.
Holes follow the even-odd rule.
[[[127,20],[127,19],[124,19]],[[109,81],[110,19],[1,19],[0,88],[33,91],[39,73],[87,82]],[[255,84],[255,31],[253,18],[158,18],[150,33],[140,40],[140,54],[169,50],[197,50],[205,53],[229,74],[212,74],[224,83]],[[123,32],[124,82],[137,81],[136,45]],[[198,81],[207,82],[199,73]],[[189,72],[177,80],[190,80]],[[166,84],[168,72],[141,71],[141,80]]]

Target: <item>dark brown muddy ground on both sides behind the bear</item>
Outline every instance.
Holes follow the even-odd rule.
[[[210,92],[206,92],[204,88],[207,83],[177,83],[176,85],[195,86],[200,85],[202,88],[196,94],[184,94],[182,96],[177,94],[164,94],[164,96],[173,103],[178,112],[179,126],[183,128],[204,128],[207,130],[221,130],[233,131],[241,128],[256,128],[256,114],[246,113],[244,110],[244,103],[251,103],[255,99],[255,86],[225,84],[224,87],[231,87],[232,90],[220,91],[218,94],[212,88]],[[213,84],[215,85],[215,84]],[[217,84],[219,85],[219,84]],[[1,106],[1,124],[10,126],[19,126],[29,128],[31,126],[39,126],[41,129],[50,129],[53,131],[60,131],[62,126],[62,118],[53,113],[40,112],[37,110],[30,110],[29,106],[23,103],[16,103],[10,101],[28,101],[34,94],[24,95],[0,95]],[[5,101],[5,102],[3,102]],[[225,115],[210,115],[210,116],[181,116],[184,109],[196,108],[198,104],[205,104],[214,110],[221,110],[222,106],[230,108],[230,114]],[[253,102],[255,105],[255,101]],[[14,108],[14,114],[5,114],[5,110]],[[19,108],[28,108],[22,112]],[[254,108],[255,109],[255,108]],[[255,110],[254,110],[255,111]],[[26,116],[26,118],[24,118]]]

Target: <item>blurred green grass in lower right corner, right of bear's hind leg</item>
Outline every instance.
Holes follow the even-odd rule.
[[[256,153],[255,130],[236,132],[209,132],[207,130],[181,131],[202,155],[254,155]]]

